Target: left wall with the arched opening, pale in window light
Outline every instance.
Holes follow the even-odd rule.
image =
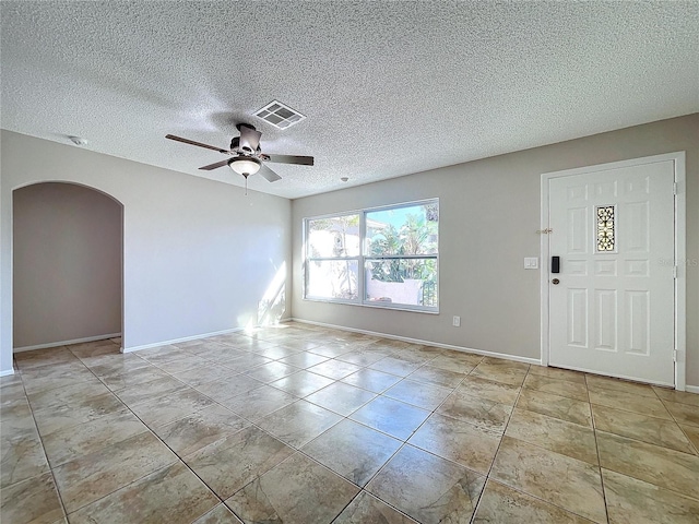
[[[0,373],[12,370],[12,193],[60,181],[123,206],[127,349],[256,323],[291,277],[291,202],[19,133],[1,133]],[[275,313],[288,317],[288,306]]]

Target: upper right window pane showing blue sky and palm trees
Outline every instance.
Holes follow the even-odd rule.
[[[369,257],[437,253],[437,202],[368,212],[366,221]]]

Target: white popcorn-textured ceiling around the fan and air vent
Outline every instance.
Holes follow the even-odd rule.
[[[699,1],[11,2],[4,129],[237,186],[245,121],[286,198],[699,111]],[[307,118],[252,114],[279,99]],[[341,177],[348,177],[343,183]]]

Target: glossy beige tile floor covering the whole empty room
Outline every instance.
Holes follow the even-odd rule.
[[[694,523],[699,395],[298,323],[15,355],[3,524]]]

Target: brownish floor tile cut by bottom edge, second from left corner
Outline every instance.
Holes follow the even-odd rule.
[[[192,522],[218,502],[211,490],[178,462],[72,513],[70,522]]]

